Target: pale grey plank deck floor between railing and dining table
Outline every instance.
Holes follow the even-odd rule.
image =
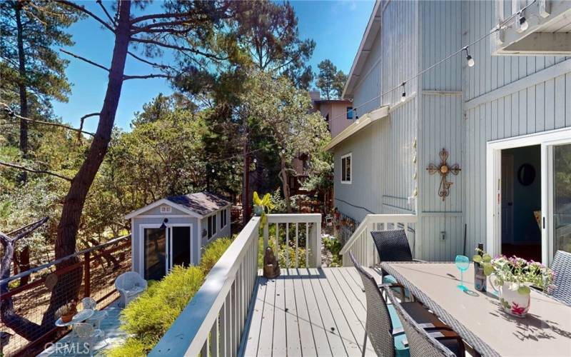
[[[258,277],[243,356],[361,356],[365,293],[355,268]],[[375,356],[367,343],[367,356]]]

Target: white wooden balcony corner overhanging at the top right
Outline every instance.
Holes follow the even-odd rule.
[[[496,11],[503,11],[497,0]],[[517,13],[517,4],[512,13]],[[505,29],[492,36],[492,54],[507,56],[571,54],[571,1],[536,0],[522,12],[528,27],[522,30],[515,15]],[[502,16],[500,16],[500,21]],[[492,29],[493,31],[494,29]]]

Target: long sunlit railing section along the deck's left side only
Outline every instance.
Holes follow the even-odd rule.
[[[246,224],[243,230],[238,234],[236,239],[231,243],[226,252],[223,253],[218,262],[213,266],[210,273],[201,288],[191,299],[190,303],[183,309],[181,314],[176,318],[171,328],[166,331],[166,334],[157,343],[155,348],[148,354],[148,356],[198,356],[201,352],[206,352],[205,348],[216,348],[218,342],[224,343],[225,338],[222,337],[223,329],[226,328],[224,323],[221,322],[220,328],[221,341],[218,341],[218,317],[223,318],[222,309],[226,306],[226,311],[231,310],[233,318],[241,316],[240,311],[234,308],[241,308],[244,301],[239,301],[239,304],[234,302],[238,295],[240,298],[251,296],[255,276],[258,274],[258,229],[260,228],[260,217],[253,217]],[[248,256],[246,257],[246,255]],[[251,266],[243,265],[248,263],[250,259]],[[238,269],[246,268],[245,273],[238,274]],[[252,274],[253,276],[249,276]],[[240,277],[238,277],[239,275]],[[241,278],[248,281],[250,286],[233,287],[233,283]],[[248,291],[248,288],[251,288]],[[243,290],[242,290],[243,289]],[[245,293],[234,293],[235,291]],[[249,298],[248,298],[249,300]],[[249,303],[249,301],[248,301]],[[230,316],[227,317],[228,319]],[[243,323],[243,321],[241,321]],[[238,327],[238,323],[234,328]],[[239,326],[238,330],[243,326]],[[215,333],[211,333],[216,329]],[[234,331],[236,334],[236,331]],[[211,343],[208,343],[210,338]],[[226,336],[226,341],[236,348],[227,348],[229,350],[237,350],[235,341],[230,341],[231,338]],[[207,356],[208,354],[201,354]],[[221,351],[221,356],[224,352]]]

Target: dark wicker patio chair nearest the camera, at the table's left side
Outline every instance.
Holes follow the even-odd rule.
[[[403,323],[406,339],[400,342],[408,346],[410,356],[416,357],[455,357],[465,356],[464,341],[454,331],[427,330],[410,316],[403,304],[399,303],[395,294],[387,289],[390,301],[393,301],[395,311]]]

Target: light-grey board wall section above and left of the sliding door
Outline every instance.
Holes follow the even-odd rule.
[[[466,1],[462,6],[463,42],[474,41],[495,26],[493,1]],[[463,175],[470,248],[486,242],[487,141],[571,127],[569,57],[491,56],[489,37],[472,51],[477,62],[465,69],[463,83],[466,131]],[[546,74],[545,80],[528,83],[533,78],[530,76],[542,72]],[[514,86],[522,83],[529,85]],[[489,99],[478,101],[484,95]]]

